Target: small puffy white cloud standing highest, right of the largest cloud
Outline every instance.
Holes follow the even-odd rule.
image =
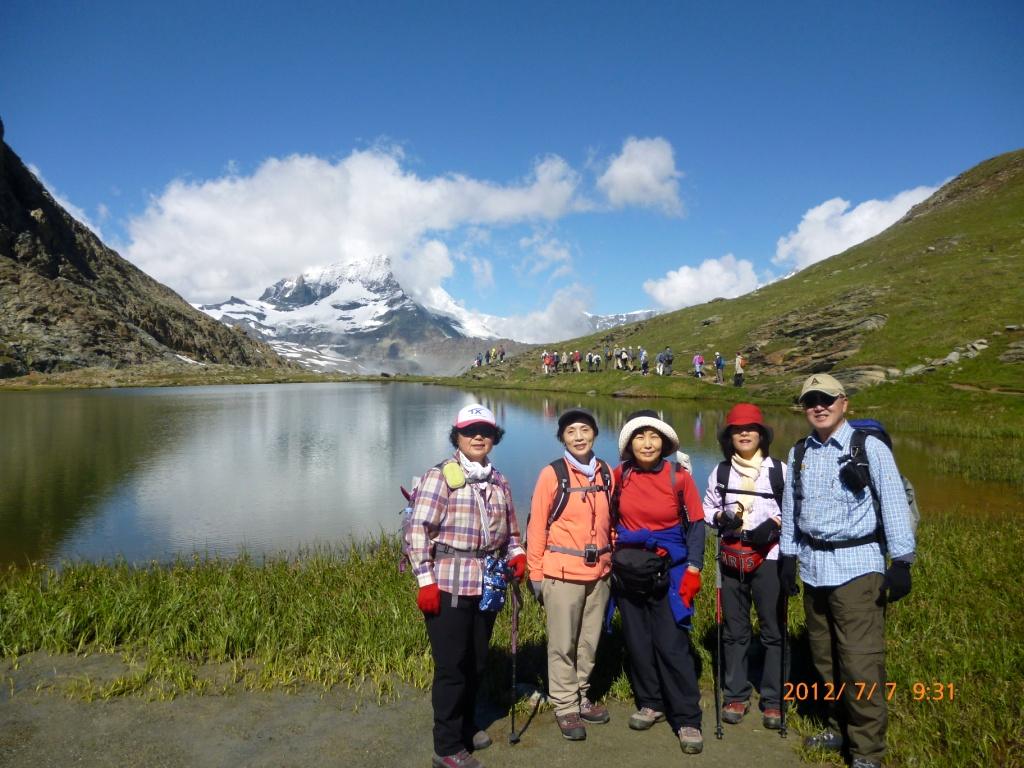
[[[670,216],[681,216],[679,179],[672,144],[664,138],[630,136],[623,152],[608,162],[597,179],[597,188],[613,208],[656,208]]]

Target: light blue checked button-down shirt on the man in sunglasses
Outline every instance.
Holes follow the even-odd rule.
[[[833,552],[811,549],[801,535],[825,542],[841,542],[871,534],[878,525],[869,488],[854,494],[839,478],[840,457],[850,453],[853,428],[846,422],[823,443],[812,433],[804,444],[801,484],[804,500],[800,511],[800,529],[794,524],[793,485],[787,482],[782,497],[783,555],[797,555],[800,575],[811,587],[839,587],[865,573],[884,573],[885,553],[877,542]],[[886,547],[893,559],[913,560],[914,540],[910,511],[903,482],[892,453],[882,440],[868,437],[865,445],[871,480],[882,502],[882,520]],[[790,451],[786,477],[793,477],[793,451]]]

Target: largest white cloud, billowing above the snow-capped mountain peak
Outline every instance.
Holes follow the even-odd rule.
[[[396,147],[332,163],[271,159],[251,176],[171,182],[128,224],[125,256],[193,302],[259,296],[284,276],[386,254],[413,294],[453,275],[444,238],[471,227],[555,220],[577,209],[581,178],[557,157],[499,185],[421,178]],[[477,269],[477,276],[485,269]]]

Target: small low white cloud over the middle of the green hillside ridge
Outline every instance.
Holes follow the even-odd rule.
[[[681,266],[660,280],[648,280],[643,290],[664,309],[681,309],[702,304],[717,296],[742,296],[760,285],[754,264],[731,253],[707,259],[698,267]]]

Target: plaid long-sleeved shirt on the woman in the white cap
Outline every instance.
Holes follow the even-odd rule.
[[[458,461],[458,459],[456,460]],[[512,506],[508,480],[497,469],[486,482],[467,482],[450,488],[441,470],[433,467],[420,479],[413,503],[409,557],[421,587],[436,584],[441,592],[455,593],[454,555],[435,554],[438,544],[459,550],[525,554],[519,544],[519,525]],[[463,555],[459,568],[460,596],[483,591],[483,561]]]

